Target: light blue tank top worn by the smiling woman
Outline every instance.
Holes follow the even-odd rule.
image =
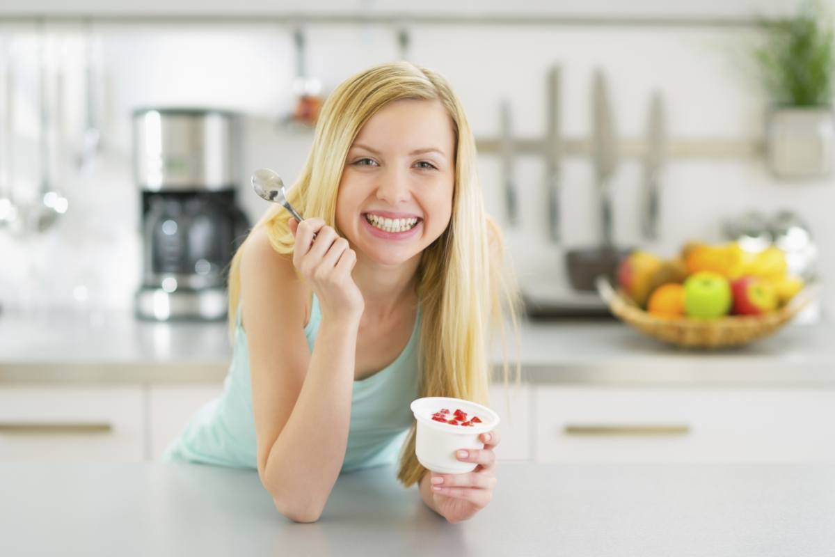
[[[354,381],[351,425],[342,472],[397,462],[414,417],[409,404],[417,398],[417,344],[421,313],[418,308],[412,336],[389,366]],[[321,311],[313,295],[310,321],[305,327],[311,352]],[[206,463],[235,468],[257,468],[255,418],[246,334],[235,327],[232,361],[223,393],[195,413],[180,436],[165,450],[164,461]]]

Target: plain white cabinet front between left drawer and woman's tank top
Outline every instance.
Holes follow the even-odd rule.
[[[149,387],[149,445],[151,460],[159,460],[204,404],[223,392],[223,385]]]

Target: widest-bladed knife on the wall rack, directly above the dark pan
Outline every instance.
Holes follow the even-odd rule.
[[[612,202],[610,180],[617,166],[615,122],[612,118],[605,77],[602,70],[595,71],[592,90],[592,147],[597,187],[600,192],[600,225],[603,246],[613,245]]]

